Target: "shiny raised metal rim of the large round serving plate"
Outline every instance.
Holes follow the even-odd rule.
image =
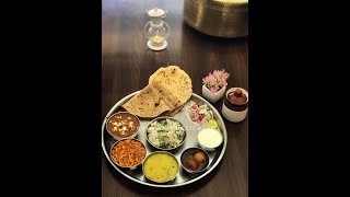
[[[138,178],[136,178],[136,177],[127,174],[126,172],[124,172],[124,171],[120,170],[117,165],[115,165],[115,164],[113,163],[113,161],[112,161],[110,158],[109,158],[109,152],[107,152],[106,147],[105,147],[104,135],[105,135],[105,132],[107,132],[106,129],[105,129],[105,127],[106,127],[106,119],[107,119],[113,113],[115,113],[115,111],[116,111],[118,107],[120,107],[124,103],[126,103],[129,99],[131,99],[133,95],[136,95],[136,94],[139,93],[139,92],[140,92],[140,91],[133,92],[133,93],[125,96],[124,99],[121,99],[119,102],[117,102],[117,103],[109,109],[109,112],[107,113],[107,115],[106,115],[105,118],[104,118],[104,121],[103,121],[103,124],[102,124],[102,149],[103,149],[103,151],[104,151],[104,154],[105,154],[106,159],[109,161],[109,164],[110,164],[115,170],[117,170],[120,174],[122,174],[124,176],[126,176],[127,178],[129,178],[129,179],[131,179],[131,181],[133,181],[133,182],[136,182],[136,183],[142,184],[142,185],[147,185],[147,186],[152,186],[152,187],[178,187],[178,186],[188,185],[188,184],[191,184],[191,183],[194,183],[194,182],[196,182],[196,181],[205,177],[205,176],[206,176],[207,174],[209,174],[212,170],[214,170],[215,166],[220,163],[221,159],[223,158],[224,152],[225,152],[225,149],[226,149],[226,146],[228,146],[228,132],[226,132],[226,127],[225,127],[224,121],[223,121],[220,113],[218,112],[218,109],[217,109],[215,107],[213,107],[207,100],[202,99],[201,96],[199,96],[199,95],[197,95],[197,94],[195,94],[195,93],[192,93],[191,97],[195,97],[195,99],[197,99],[197,100],[200,100],[200,101],[205,102],[205,103],[210,107],[210,109],[212,109],[213,113],[217,115],[217,121],[218,121],[218,124],[219,124],[219,126],[220,126],[220,129],[221,129],[221,131],[222,131],[222,134],[223,134],[223,138],[224,138],[223,144],[221,144],[221,146],[222,146],[222,150],[221,150],[218,159],[214,161],[214,163],[212,164],[211,167],[208,167],[208,170],[205,171],[202,174],[200,174],[199,176],[197,176],[197,177],[195,177],[195,178],[192,178],[192,179],[189,179],[189,181],[187,181],[187,182],[183,182],[183,183],[178,183],[178,184],[173,184],[173,185],[163,185],[163,184],[156,184],[156,183],[148,183],[148,182],[143,182],[143,181],[141,181],[141,179],[138,179]],[[185,104],[185,105],[186,105],[186,104]],[[154,118],[153,118],[153,119],[154,119]],[[152,120],[152,119],[151,119],[151,120]],[[151,121],[151,120],[150,120],[150,121]]]

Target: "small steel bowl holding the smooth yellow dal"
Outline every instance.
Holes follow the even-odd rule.
[[[166,154],[166,155],[170,155],[171,158],[173,158],[173,159],[176,161],[176,166],[175,166],[175,167],[177,167],[176,173],[174,174],[174,176],[172,176],[172,177],[170,177],[170,178],[166,178],[166,179],[163,181],[163,182],[158,182],[158,181],[155,181],[154,178],[150,177],[148,173],[145,173],[147,162],[150,160],[150,158],[152,158],[152,157],[154,157],[154,155],[156,155],[156,154]],[[159,166],[159,165],[160,165],[160,162],[155,162],[155,165],[153,165],[153,167],[158,167],[156,165]],[[161,167],[161,166],[159,166],[159,167]],[[164,171],[166,171],[166,169],[163,169],[163,167],[161,167],[161,169],[164,170]],[[172,181],[174,181],[174,179],[176,178],[176,176],[177,176],[177,174],[178,174],[178,172],[179,172],[179,163],[178,163],[178,161],[177,161],[177,159],[175,158],[174,154],[172,154],[172,153],[170,153],[170,152],[167,152],[167,151],[155,151],[155,152],[152,152],[151,154],[149,154],[149,155],[145,158],[144,162],[142,163],[142,172],[143,172],[144,177],[145,177],[147,179],[149,179],[149,181],[151,181],[151,182],[154,182],[154,183],[158,183],[158,184],[165,184],[165,183],[172,182]]]

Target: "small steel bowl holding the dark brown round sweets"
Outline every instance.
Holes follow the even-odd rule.
[[[196,152],[202,152],[205,154],[205,157],[206,157],[205,162],[202,162],[202,163],[196,162],[196,159],[194,157]],[[189,169],[186,165],[187,160],[190,160],[190,159],[194,160],[198,164],[198,169],[196,171]],[[201,149],[201,148],[197,148],[197,147],[188,148],[182,153],[180,162],[182,162],[183,169],[186,172],[191,173],[191,174],[200,173],[200,172],[206,171],[209,166],[209,154],[205,149]]]

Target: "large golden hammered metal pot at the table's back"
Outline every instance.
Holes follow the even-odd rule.
[[[184,20],[203,34],[247,36],[248,0],[185,0]]]

